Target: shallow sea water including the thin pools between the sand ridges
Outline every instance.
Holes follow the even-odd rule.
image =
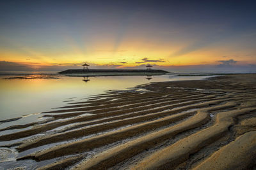
[[[218,75],[220,74],[204,73],[204,76],[202,76],[201,73],[200,74],[172,73],[172,74],[166,74],[163,76],[103,76],[103,77],[83,78],[83,77],[61,76],[58,74],[51,74],[50,76],[49,74],[43,74],[43,75],[42,74],[33,74],[33,75],[19,74],[19,76],[17,76],[17,74],[4,74],[4,75],[2,74],[1,76],[1,73],[0,73],[0,87],[1,87],[0,88],[0,92],[1,92],[0,120],[10,119],[10,118],[19,118],[17,120],[12,120],[10,122],[0,123],[0,129],[4,127],[8,127],[10,125],[22,125],[22,124],[35,122],[35,121],[42,121],[45,119],[45,117],[42,117],[42,115],[44,115],[41,113],[42,111],[56,110],[57,107],[68,106],[69,103],[76,103],[81,101],[83,102],[91,99],[96,99],[96,100],[106,99],[108,97],[100,96],[100,94],[108,94],[108,93],[111,94],[111,91],[112,92],[116,91],[119,95],[119,98],[110,97],[108,98],[110,101],[111,100],[115,101],[118,99],[122,101],[123,98],[120,96],[125,96],[125,94],[127,94],[127,91],[132,92],[132,95],[143,94],[147,92],[147,90],[143,88],[142,89],[134,88],[136,87],[136,85],[141,85],[143,83],[145,84],[145,83],[151,83],[151,82],[157,82],[157,81],[202,80],[204,78],[209,78],[211,76],[218,76]],[[8,79],[10,77],[20,77],[20,76],[22,77],[28,76],[28,78]],[[83,80],[90,80],[90,81],[83,81]],[[143,86],[140,86],[140,87],[143,87]],[[183,89],[184,94],[186,94],[186,92],[189,91],[189,90],[185,90],[185,88],[179,88],[179,87],[176,87],[176,88],[178,89],[177,91],[180,91],[180,89]],[[200,91],[200,89],[195,89],[194,91],[197,91],[197,90]],[[134,91],[136,92],[134,93]],[[204,94],[205,93],[207,93],[207,91],[206,92],[204,91]],[[4,96],[2,96],[2,94],[4,94]],[[19,94],[19,96],[17,96],[17,94]],[[166,97],[167,97],[167,100],[168,100],[168,95],[166,96],[165,93],[163,94],[164,95],[162,95],[161,98],[166,100]],[[196,99],[197,95],[198,93],[196,93],[196,95],[193,98]],[[193,96],[193,94],[189,95],[189,97],[191,96]],[[210,98],[212,99],[212,97]],[[221,96],[219,96],[219,98],[221,98]],[[183,98],[180,98],[180,99],[183,99]],[[198,99],[200,99],[200,97],[198,97]],[[157,100],[158,100],[157,104],[165,103],[165,105],[164,106],[156,105],[154,106],[154,109],[160,109],[168,106],[166,105],[168,101],[159,101],[159,98],[157,98]],[[148,101],[146,102],[148,103]],[[150,104],[151,103],[152,101],[150,101]],[[189,103],[190,101],[180,100],[179,103],[172,104],[173,106],[175,106],[175,108],[165,108],[164,111],[170,111],[170,110],[175,111],[182,108],[186,108],[189,106]],[[199,103],[201,103],[201,101]],[[118,103],[118,105],[119,104],[120,103]],[[183,105],[180,106],[180,104],[184,104],[184,106]],[[127,105],[122,104],[122,106],[129,106],[129,103],[127,103]],[[116,106],[116,107],[119,108],[120,106]],[[143,107],[143,104],[138,105],[137,107],[138,108]],[[61,108],[60,110],[62,109],[65,110],[66,108]],[[92,108],[91,110],[93,109],[95,108]],[[145,111],[147,110],[147,108],[143,108],[141,110]],[[162,110],[160,110],[160,112],[161,111]],[[77,117],[90,115],[90,109],[89,111],[86,111],[86,110],[77,111],[77,113],[80,113],[80,112],[83,113],[83,115],[77,115]],[[104,111],[104,113],[105,112],[106,111]],[[109,110],[109,112],[111,112],[111,110]],[[108,111],[106,113],[108,113]],[[130,112],[127,112],[127,113],[131,114],[134,112],[132,112],[131,110]],[[58,114],[63,114],[63,113],[47,113],[47,115],[58,115]],[[95,112],[95,114],[97,114],[97,112]],[[148,115],[151,114],[150,110],[148,110],[147,114]],[[122,114],[122,116],[124,115],[125,115],[125,112],[124,114]],[[214,114],[211,114],[210,116],[214,117]],[[105,117],[108,117],[108,115],[106,115]],[[137,117],[141,117],[141,116],[134,115],[134,117],[132,117],[131,120]],[[58,120],[54,120],[54,122],[55,121],[58,122],[61,120],[68,120],[68,119],[71,119],[71,117],[60,118]],[[97,119],[97,121],[103,120],[103,119],[105,118]],[[82,125],[80,127],[77,125],[84,124],[84,122],[74,122],[71,124],[63,124],[59,127],[55,127],[54,129],[50,129],[48,131],[39,132],[38,134],[31,134],[31,136],[29,137],[23,136],[20,139],[13,138],[11,141],[2,141],[0,142],[0,146],[2,146],[0,147],[0,169],[1,168],[6,169],[10,167],[14,168],[14,167],[20,167],[20,166],[24,166],[28,169],[35,169],[35,167],[38,167],[38,166],[45,166],[46,164],[50,164],[56,160],[63,159],[63,157],[57,158],[57,159],[53,158],[51,160],[44,160],[42,162],[35,162],[34,160],[16,161],[16,158],[28,155],[38,150],[43,150],[45,148],[60,145],[63,143],[70,143],[70,142],[74,142],[81,139],[91,138],[92,136],[104,134],[106,132],[117,131],[117,130],[123,129],[124,127],[136,125],[137,122],[133,122],[132,124],[125,124],[124,126],[120,126],[116,124],[115,129],[105,129],[104,131],[101,131],[101,132],[97,131],[95,134],[88,133],[86,136],[78,136],[79,138],[75,138],[75,139],[67,138],[65,141],[57,140],[57,141],[53,141],[53,143],[45,143],[44,146],[38,145],[35,148],[30,148],[29,150],[25,150],[24,152],[18,153],[17,150],[15,149],[15,145],[17,146],[17,143],[19,143],[20,141],[24,142],[24,139],[28,139],[28,141],[33,141],[33,139],[36,139],[38,137],[42,137],[45,135],[58,134],[62,132],[64,129],[65,129],[65,132],[69,132],[70,134],[70,132],[73,133],[73,131],[74,132],[76,132],[77,130],[80,131],[84,127],[93,127],[95,125],[109,124],[113,122],[118,122],[121,119],[122,118],[108,120],[106,122],[97,122],[97,124],[96,123],[88,124],[88,125],[85,124],[86,126]],[[122,120],[129,120],[129,119],[130,117],[126,117]],[[140,121],[143,122],[143,120],[140,120]],[[40,122],[40,124],[42,124],[42,122]],[[72,129],[71,128],[72,126],[74,127],[77,126],[77,127]],[[31,129],[31,127],[26,127],[25,129],[13,129],[13,130],[1,131],[0,136],[4,134],[9,134],[12,132],[24,131],[26,129]],[[12,145],[14,143],[16,144],[11,146],[10,148],[4,147],[4,145]]]

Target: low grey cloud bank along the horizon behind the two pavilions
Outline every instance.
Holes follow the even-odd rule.
[[[230,60],[219,60],[221,64],[200,64],[200,65],[190,65],[190,66],[160,66],[157,64],[152,64],[153,69],[164,69],[166,71],[255,71],[256,64],[237,64],[237,61],[234,59]],[[60,64],[78,64],[78,63],[60,63]],[[147,64],[138,64],[139,66],[125,66],[120,64],[111,63],[108,64],[93,64],[89,63],[91,69],[146,69]],[[0,71],[63,71],[65,69],[81,69],[82,66],[75,65],[58,65],[58,63],[52,63],[51,66],[44,65],[30,65],[27,62],[8,62],[0,61]]]

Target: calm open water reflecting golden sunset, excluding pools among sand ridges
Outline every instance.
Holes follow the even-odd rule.
[[[216,75],[209,72],[176,72],[152,76],[150,80],[146,76],[102,76],[90,77],[90,81],[85,82],[83,77],[55,73],[0,73],[0,120],[23,117],[19,122],[31,122],[40,119],[42,111],[64,106],[67,101],[86,101],[86,98],[102,94],[106,90],[125,90],[157,81],[200,80],[214,74]],[[35,78],[5,79],[17,76]],[[46,76],[46,79],[42,76]]]

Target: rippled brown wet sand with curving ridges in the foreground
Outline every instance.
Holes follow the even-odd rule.
[[[255,96],[256,74],[150,83],[46,111],[0,141],[38,169],[253,169]]]

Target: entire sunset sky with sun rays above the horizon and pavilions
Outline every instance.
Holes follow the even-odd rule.
[[[256,1],[0,1],[0,71],[256,70]]]

